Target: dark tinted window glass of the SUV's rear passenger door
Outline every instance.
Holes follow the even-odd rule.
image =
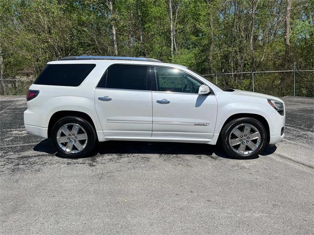
[[[107,70],[106,88],[146,90],[147,69],[142,65],[112,65]]]

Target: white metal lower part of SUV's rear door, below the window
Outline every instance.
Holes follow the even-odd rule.
[[[110,100],[100,100],[102,97]],[[105,138],[151,137],[151,91],[97,88],[95,107]]]

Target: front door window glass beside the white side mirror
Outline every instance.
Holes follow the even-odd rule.
[[[202,85],[195,78],[177,69],[155,67],[155,72],[157,91],[197,94]]]

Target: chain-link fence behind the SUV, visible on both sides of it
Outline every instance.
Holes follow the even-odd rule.
[[[314,97],[314,70],[254,71],[205,74],[209,81],[226,88],[275,96]],[[34,79],[1,79],[1,95],[25,95]]]

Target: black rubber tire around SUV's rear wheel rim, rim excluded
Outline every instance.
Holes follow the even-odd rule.
[[[63,125],[68,124],[68,123],[75,123],[75,124],[80,125],[82,128],[84,128],[87,134],[88,139],[86,140],[87,141],[86,146],[78,153],[66,152],[59,146],[57,142],[57,134],[58,134],[59,129]],[[74,117],[74,116],[61,118],[58,121],[56,121],[54,125],[52,126],[50,138],[52,141],[52,145],[56,149],[58,154],[65,158],[90,157],[97,143],[97,135],[96,135],[96,131],[94,127],[85,119]]]

